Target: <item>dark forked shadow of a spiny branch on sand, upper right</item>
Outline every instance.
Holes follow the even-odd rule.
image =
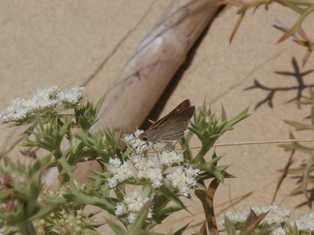
[[[260,107],[262,104],[264,103],[268,103],[269,107],[273,107],[273,97],[275,95],[276,91],[290,91],[290,90],[297,90],[297,95],[296,97],[288,100],[285,103],[290,103],[293,101],[300,101],[301,97],[305,98],[302,96],[302,91],[307,88],[308,86],[310,87],[314,87],[314,84],[304,84],[303,82],[303,77],[310,74],[311,72],[313,72],[314,70],[307,70],[303,73],[300,72],[299,66],[295,60],[295,58],[292,58],[292,66],[294,68],[294,72],[281,72],[281,71],[276,71],[275,74],[279,74],[279,75],[284,75],[284,76],[291,76],[294,77],[298,83],[298,86],[290,86],[290,87],[267,87],[262,85],[261,83],[259,83],[257,80],[254,80],[254,86],[250,86],[244,89],[244,91],[246,90],[250,90],[250,89],[261,89],[264,91],[268,91],[268,95],[265,97],[265,99],[261,100],[260,102],[257,103],[257,105],[255,105],[254,110],[256,110],[258,107]],[[300,105],[297,105],[298,108],[300,108]]]

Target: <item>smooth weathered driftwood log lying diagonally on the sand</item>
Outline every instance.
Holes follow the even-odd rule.
[[[187,52],[213,18],[216,1],[174,0],[107,91],[99,124],[132,132],[160,98]]]

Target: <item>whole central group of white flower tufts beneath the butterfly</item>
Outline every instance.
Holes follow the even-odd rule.
[[[173,173],[163,175],[165,169],[169,169],[172,165],[179,165],[184,160],[182,154],[178,154],[172,145],[167,144],[167,148],[164,148],[167,150],[149,159],[147,152],[143,151],[153,149],[153,144],[140,141],[138,135],[141,133],[143,131],[137,130],[134,135],[125,137],[126,143],[135,150],[135,154],[131,154],[130,160],[123,164],[120,159],[109,160],[107,168],[112,175],[111,178],[108,178],[109,186],[116,187],[118,182],[132,178],[132,180],[149,180],[153,189],[156,189],[168,181],[173,189],[177,189],[178,194],[189,196],[188,190],[197,184],[195,178],[199,169],[193,170],[192,166],[180,167],[175,172],[172,170]],[[168,185],[170,186],[170,184]],[[122,203],[115,207],[115,214],[127,216],[128,221],[132,223],[147,200],[148,197],[143,197],[139,191],[134,191],[132,197],[125,196]],[[151,217],[151,211],[152,209],[150,209],[148,218]]]

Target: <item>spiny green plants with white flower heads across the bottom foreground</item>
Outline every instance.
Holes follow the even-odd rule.
[[[178,140],[182,151],[168,143],[156,153],[154,149],[158,148],[154,144],[137,138],[142,133],[140,130],[123,138],[127,148],[122,151],[117,147],[122,131],[118,138],[113,127],[89,132],[105,97],[94,106],[82,91],[82,87],[60,91],[56,86],[37,90],[33,98],[14,100],[0,113],[4,123],[10,123],[9,127],[30,125],[24,132],[22,146],[46,149],[53,157],[41,158],[32,167],[4,158],[0,168],[0,231],[3,234],[100,234],[97,227],[102,223],[96,224],[94,214],[85,213],[83,208],[93,205],[108,212],[110,219],[103,222],[116,234],[161,234],[150,230],[171,214],[188,211],[181,197],[191,199],[194,190],[205,212],[206,222],[200,234],[207,234],[206,226],[210,234],[218,234],[214,193],[220,182],[233,176],[226,172],[229,165],[218,165],[223,156],[214,152],[209,161],[204,156],[223,133],[249,116],[248,108],[228,121],[222,107],[219,123],[204,103],[199,113],[194,114],[187,135]],[[73,114],[64,114],[71,109]],[[80,131],[72,132],[73,127]],[[202,144],[196,156],[189,147],[192,135]],[[61,149],[62,141],[68,141],[70,146],[65,151]],[[92,183],[80,184],[74,170],[88,156],[99,156],[103,171],[91,170],[93,175],[88,177]],[[55,190],[41,182],[43,170],[50,165],[56,165],[59,171],[56,177],[60,188]],[[205,186],[204,180],[208,179],[211,183]],[[278,211],[276,206],[270,209]],[[297,222],[294,225],[287,222],[287,216],[284,221],[273,219],[273,222],[271,216],[268,219],[271,226],[266,226],[263,220],[267,219],[268,212],[263,208],[255,210],[259,215],[251,210],[242,226],[235,224],[231,215],[230,219],[225,216],[221,224],[228,234],[236,234],[239,228],[243,234],[256,233],[256,229],[262,229],[261,234],[276,233],[274,226],[285,225],[290,234],[301,231],[297,229],[300,226]],[[260,222],[264,226],[260,227]],[[182,234],[187,227],[188,224],[174,234]]]

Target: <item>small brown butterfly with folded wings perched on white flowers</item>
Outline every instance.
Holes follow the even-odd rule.
[[[190,100],[187,99],[165,117],[151,125],[138,138],[142,141],[153,143],[182,138],[194,112],[195,106],[191,106]]]

